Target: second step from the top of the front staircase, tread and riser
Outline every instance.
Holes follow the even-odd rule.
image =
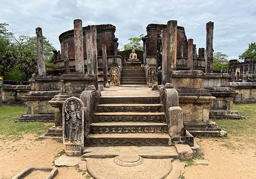
[[[163,112],[162,104],[98,104],[97,113],[105,112]]]

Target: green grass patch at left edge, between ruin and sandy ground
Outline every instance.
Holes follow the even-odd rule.
[[[51,127],[42,122],[14,122],[25,113],[27,113],[26,107],[0,107],[0,135],[5,136],[0,140],[18,140],[22,138],[22,133],[41,135]]]

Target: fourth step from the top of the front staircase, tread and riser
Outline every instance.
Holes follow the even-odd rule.
[[[153,122],[91,123],[90,133],[168,133],[168,125]]]

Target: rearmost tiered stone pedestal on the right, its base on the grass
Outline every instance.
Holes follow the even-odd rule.
[[[245,119],[238,111],[233,109],[233,98],[237,96],[234,88],[228,87],[230,75],[226,73],[206,73],[203,87],[216,97],[210,104],[210,119]]]

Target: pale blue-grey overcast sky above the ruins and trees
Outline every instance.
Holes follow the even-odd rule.
[[[256,1],[237,0],[0,0],[0,23],[8,23],[19,31],[35,35],[41,27],[43,35],[60,50],[58,36],[73,29],[73,20],[82,19],[83,26],[112,24],[116,26],[119,48],[128,38],[146,34],[151,23],[167,24],[178,20],[187,38],[197,48],[205,47],[205,24],[213,21],[214,49],[236,59],[250,42],[256,41]]]

